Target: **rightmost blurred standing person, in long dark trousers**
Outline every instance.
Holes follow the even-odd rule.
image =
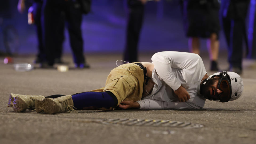
[[[245,20],[250,0],[222,0],[221,15],[228,45],[229,71],[242,73],[242,42],[247,43]]]

